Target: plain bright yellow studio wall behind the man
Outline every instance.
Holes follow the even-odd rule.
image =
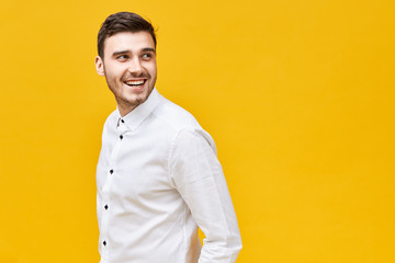
[[[0,262],[99,262],[111,13],[158,27],[158,90],[214,137],[237,262],[394,262],[394,2],[1,1]]]

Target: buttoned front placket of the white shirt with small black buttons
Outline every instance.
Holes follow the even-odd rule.
[[[103,185],[103,198],[102,198],[102,221],[101,221],[101,240],[100,245],[103,252],[103,258],[109,259],[109,249],[111,245],[111,240],[109,239],[109,221],[111,220],[111,207],[114,205],[111,199],[112,188],[111,185],[116,178],[119,171],[117,156],[120,153],[121,147],[124,141],[125,133],[127,127],[124,124],[124,121],[121,118],[116,127],[117,139],[115,146],[110,155],[108,176]]]

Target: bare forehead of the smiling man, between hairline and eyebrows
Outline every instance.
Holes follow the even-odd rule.
[[[120,50],[139,52],[144,48],[154,48],[155,43],[148,32],[121,32],[104,41],[104,56]]]

